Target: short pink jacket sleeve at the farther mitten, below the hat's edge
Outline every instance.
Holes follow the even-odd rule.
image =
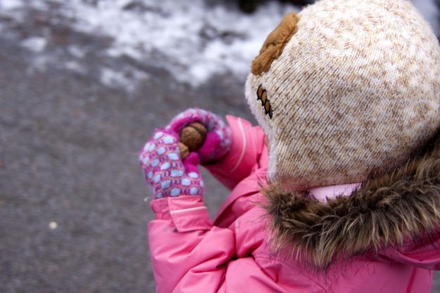
[[[251,174],[263,152],[264,132],[259,126],[234,116],[226,116],[232,130],[231,150],[220,161],[203,165],[223,185],[233,189]]]

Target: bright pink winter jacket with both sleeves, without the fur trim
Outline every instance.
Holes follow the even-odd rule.
[[[211,222],[201,197],[156,199],[149,247],[158,293],[165,292],[430,292],[440,268],[440,239],[407,249],[385,249],[335,263],[329,272],[272,254],[260,193],[268,151],[260,127],[227,116],[232,149],[207,166],[232,189]],[[208,192],[206,197],[213,196]],[[429,243],[429,244],[426,244]]]

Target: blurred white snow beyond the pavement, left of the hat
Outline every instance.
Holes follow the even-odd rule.
[[[194,86],[225,73],[243,80],[266,35],[285,13],[298,10],[276,1],[246,15],[203,0],[0,0],[0,14],[19,15],[25,7],[58,9],[73,20],[75,30],[111,37],[107,56],[130,56],[166,68],[177,80]],[[44,42],[35,37],[23,46],[39,51]],[[106,83],[108,71],[102,72]]]

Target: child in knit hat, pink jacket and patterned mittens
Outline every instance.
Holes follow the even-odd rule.
[[[191,109],[141,153],[157,292],[430,292],[439,64],[406,0],[286,15],[246,82],[260,127]],[[194,121],[208,134],[182,161],[179,135]],[[213,223],[199,161],[232,189]]]

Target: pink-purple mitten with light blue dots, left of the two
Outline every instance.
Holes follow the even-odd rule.
[[[146,182],[154,199],[180,195],[203,195],[199,156],[189,154],[182,162],[179,137],[173,130],[156,130],[139,154]]]

